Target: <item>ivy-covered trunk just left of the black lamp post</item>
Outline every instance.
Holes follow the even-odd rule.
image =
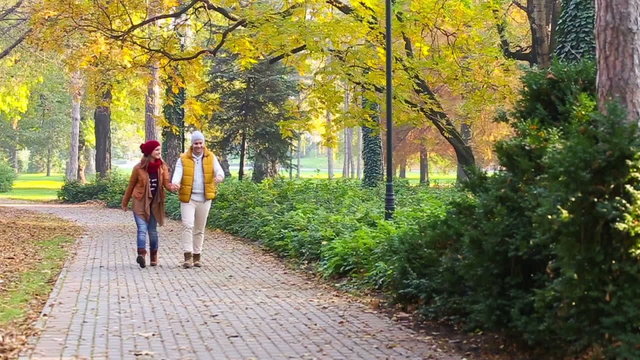
[[[380,108],[378,104],[363,99],[363,106],[373,112],[371,122],[380,123]],[[382,183],[382,137],[380,133],[369,126],[362,127],[362,185],[375,187]]]

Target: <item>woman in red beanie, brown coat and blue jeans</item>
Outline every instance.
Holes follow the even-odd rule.
[[[160,143],[149,140],[140,145],[144,154],[133,167],[129,186],[122,198],[122,210],[127,211],[129,200],[133,198],[133,218],[138,226],[138,257],[136,262],[145,267],[147,255],[147,233],[151,253],[151,266],[158,264],[158,225],[164,225],[164,189],[174,191],[169,182],[169,169],[162,161]]]

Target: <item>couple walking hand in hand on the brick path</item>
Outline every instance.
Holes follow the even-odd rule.
[[[150,265],[158,265],[157,226],[164,225],[164,190],[178,192],[182,217],[182,267],[200,267],[204,228],[216,196],[217,183],[224,180],[224,171],[216,156],[205,147],[200,131],[191,134],[191,147],[180,155],[171,181],[169,169],[162,160],[161,145],[149,140],[140,145],[142,159],[134,166],[129,186],[122,197],[122,210],[127,211],[133,199],[133,218],[138,227],[136,262],[146,266],[147,234],[149,235]]]

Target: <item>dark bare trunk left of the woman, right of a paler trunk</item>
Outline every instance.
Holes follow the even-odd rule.
[[[101,178],[111,171],[111,89],[102,94],[102,103],[93,113],[96,134],[96,172]]]

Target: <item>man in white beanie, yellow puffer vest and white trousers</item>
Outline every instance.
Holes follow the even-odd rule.
[[[200,255],[204,242],[211,200],[216,197],[217,183],[224,180],[224,171],[216,156],[204,146],[200,131],[191,133],[191,147],[176,162],[171,183],[179,187],[182,216],[182,267],[202,266]]]

